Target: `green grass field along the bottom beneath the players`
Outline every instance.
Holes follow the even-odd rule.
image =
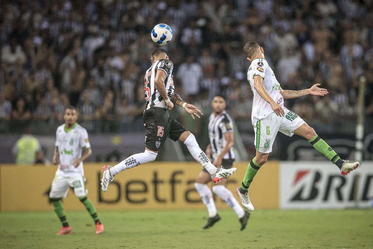
[[[96,235],[87,212],[67,211],[72,234],[57,237],[54,212],[0,212],[0,248],[373,248],[373,210],[258,210],[242,232],[230,210],[202,230],[206,213],[101,211],[105,232]]]

